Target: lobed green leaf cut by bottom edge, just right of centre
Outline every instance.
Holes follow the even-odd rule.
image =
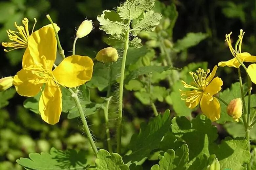
[[[183,144],[176,154],[173,149],[168,149],[160,156],[159,165],[154,165],[151,170],[184,170],[188,161],[188,146]]]

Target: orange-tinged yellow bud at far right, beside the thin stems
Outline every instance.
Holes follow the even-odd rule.
[[[239,118],[242,116],[242,100],[240,98],[230,101],[227,106],[227,114],[238,122]]]

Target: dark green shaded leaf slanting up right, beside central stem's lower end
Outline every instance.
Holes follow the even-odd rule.
[[[160,141],[170,125],[170,110],[152,118],[147,125],[142,123],[139,134],[134,134],[131,138],[128,148],[132,153],[124,157],[125,162],[136,162],[148,157],[153,149],[159,147]]]

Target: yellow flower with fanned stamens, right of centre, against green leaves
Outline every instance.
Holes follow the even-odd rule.
[[[216,121],[220,118],[221,106],[217,98],[213,97],[214,94],[221,90],[223,81],[219,77],[215,77],[217,70],[215,66],[210,73],[207,69],[205,72],[203,69],[199,68],[196,73],[190,72],[193,77],[193,85],[187,84],[185,81],[181,81],[185,88],[193,89],[192,91],[181,91],[181,98],[185,100],[187,107],[193,109],[199,103],[201,110],[205,116],[207,116],[211,121]],[[209,74],[210,73],[210,74]]]

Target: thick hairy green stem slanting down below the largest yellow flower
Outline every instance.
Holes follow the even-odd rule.
[[[85,133],[86,133],[86,135],[87,135],[87,138],[88,138],[88,140],[89,140],[89,142],[90,142],[90,144],[91,144],[91,147],[92,147],[92,149],[93,149],[93,152],[94,152],[94,154],[95,154],[95,156],[96,156],[96,155],[97,155],[97,152],[98,152],[98,151],[97,151],[97,147],[96,147],[96,145],[95,145],[95,143],[94,143],[94,141],[93,141],[93,137],[92,137],[92,134],[91,134],[90,129],[89,129],[89,127],[88,127],[88,124],[87,124],[87,122],[86,122],[85,115],[84,115],[84,112],[83,112],[81,103],[80,103],[80,101],[79,101],[79,98],[78,98],[78,96],[77,96],[77,93],[73,92],[72,89],[69,89],[69,92],[72,94],[72,97],[73,97],[74,100],[75,100],[75,104],[76,104],[77,110],[78,110],[78,112],[79,112],[79,114],[80,114],[80,116],[81,116],[81,120],[82,120],[82,122],[83,122],[84,131],[85,131]]]

